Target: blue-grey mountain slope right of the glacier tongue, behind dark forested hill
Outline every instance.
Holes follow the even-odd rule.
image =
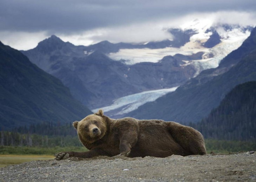
[[[146,103],[127,116],[198,122],[220,104],[236,85],[256,80],[256,28],[217,68],[205,70],[175,92]]]

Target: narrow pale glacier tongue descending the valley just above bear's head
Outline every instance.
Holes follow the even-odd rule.
[[[178,87],[150,90],[137,94],[127,95],[119,99],[114,100],[112,105],[108,105],[103,108],[93,109],[93,112],[97,112],[99,109],[103,109],[108,116],[123,115],[137,109],[139,106],[155,101],[157,98],[166,95],[169,92],[174,92]]]

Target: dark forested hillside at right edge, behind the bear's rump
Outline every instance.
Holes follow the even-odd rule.
[[[192,124],[205,138],[256,140],[256,81],[232,89],[201,122]]]

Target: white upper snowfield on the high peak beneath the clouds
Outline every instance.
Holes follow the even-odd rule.
[[[197,52],[204,52],[202,59],[189,61],[197,69],[196,77],[201,71],[216,68],[220,61],[233,50],[239,48],[243,41],[249,37],[250,31],[244,31],[244,27],[233,25],[231,29],[225,29],[225,25],[213,24],[211,21],[194,20],[177,27],[183,31],[193,29],[197,33],[190,37],[190,42],[180,48],[167,47],[163,49],[120,49],[118,52],[109,53],[108,57],[113,60],[120,61],[127,65],[133,65],[141,62],[157,63],[165,56],[174,56],[175,54],[183,54],[189,56]],[[203,46],[213,32],[207,31],[213,29],[221,37],[221,43],[213,48]],[[211,56],[210,56],[211,55]]]

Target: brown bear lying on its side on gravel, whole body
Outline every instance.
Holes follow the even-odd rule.
[[[87,152],[60,152],[56,160],[70,156],[91,158],[98,155],[129,157],[167,157],[170,155],[204,155],[203,136],[197,130],[175,122],[112,119],[99,110],[73,123]]]

